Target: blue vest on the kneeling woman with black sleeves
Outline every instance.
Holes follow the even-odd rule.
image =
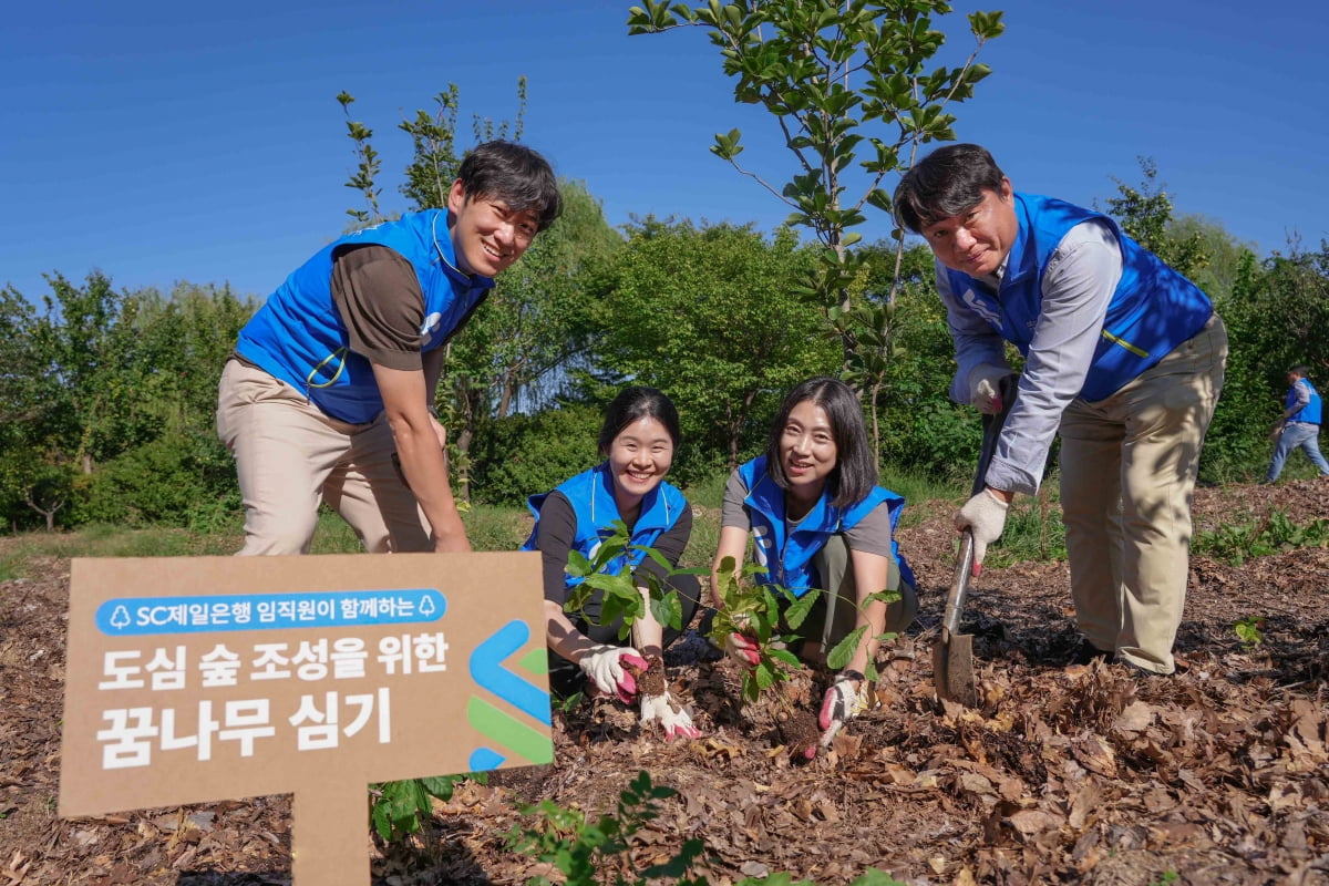
[[[610,526],[615,519],[622,519],[618,513],[618,503],[614,501],[614,478],[609,473],[609,462],[601,462],[590,470],[582,472],[571,480],[554,487],[571,502],[573,513],[577,517],[577,534],[573,538],[573,550],[583,557],[593,557],[595,549],[603,538],[613,534]],[[530,513],[536,517],[536,525],[530,530],[530,538],[521,546],[524,551],[538,550],[536,537],[540,533],[540,509],[549,498],[549,493],[532,495],[526,499]],[[653,546],[655,539],[667,533],[683,515],[687,499],[676,487],[662,482],[659,486],[646,493],[642,498],[642,513],[633,526],[631,543]],[[618,573],[623,566],[633,571],[646,559],[646,551],[627,550],[615,557],[606,566],[606,571]],[[574,587],[583,582],[581,576],[567,576],[567,587]]]

